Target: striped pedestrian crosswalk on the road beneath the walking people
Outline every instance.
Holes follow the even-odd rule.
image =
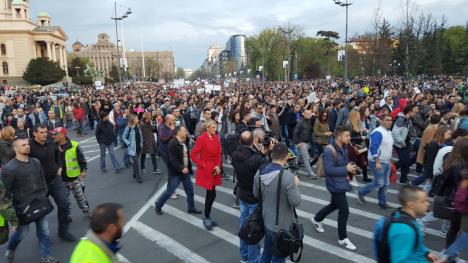
[[[232,166],[225,165],[224,168],[232,176]],[[348,237],[358,247],[356,251],[349,251],[337,244],[337,212],[323,221],[325,233],[317,233],[311,224],[310,219],[329,202],[325,180],[311,180],[305,176],[302,180],[302,202],[297,210],[305,230],[305,247],[301,261],[374,262],[374,224],[380,217],[391,213],[377,206],[376,193],[369,195],[366,206],[358,204],[356,194],[347,195],[350,206]],[[186,196],[181,187],[177,190],[179,198],[167,202],[162,208],[162,216],[156,215],[154,202],[166,188],[165,185],[160,185],[158,191],[126,225],[122,255],[130,262],[153,262],[145,251],[147,244],[143,245],[148,242],[158,252],[157,262],[239,262],[239,210],[232,207],[234,185],[232,180],[225,180],[222,186],[216,188],[217,197],[212,218],[219,226],[213,231],[205,230],[201,216],[186,212]],[[195,204],[198,208],[203,208],[205,191],[197,186],[194,188]],[[392,207],[398,207],[397,193],[398,185],[392,185],[388,192]],[[437,220],[425,228],[425,243],[434,251],[442,251],[444,248],[441,225],[442,221]],[[466,255],[463,257],[466,258]]]

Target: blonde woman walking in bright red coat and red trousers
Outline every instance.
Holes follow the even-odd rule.
[[[206,189],[205,218],[203,225],[207,230],[218,224],[211,220],[210,213],[216,199],[217,185],[221,185],[221,143],[216,135],[218,124],[209,120],[205,123],[205,132],[198,137],[190,157],[197,165],[196,184]]]

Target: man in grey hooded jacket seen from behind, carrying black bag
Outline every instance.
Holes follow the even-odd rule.
[[[258,198],[262,194],[263,223],[265,225],[265,238],[263,253],[260,262],[286,262],[284,248],[275,246],[283,242],[278,241],[280,232],[289,231],[297,224],[293,208],[299,206],[301,182],[291,172],[284,169],[288,162],[288,147],[282,143],[273,146],[271,152],[272,162],[260,169],[255,175],[253,192]],[[259,184],[259,181],[261,183]],[[279,184],[279,182],[281,182]],[[278,196],[280,194],[280,196]],[[277,201],[279,198],[279,205]],[[288,251],[289,252],[289,251]]]

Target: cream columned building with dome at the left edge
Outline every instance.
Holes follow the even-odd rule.
[[[0,0],[0,81],[3,85],[27,85],[23,79],[31,59],[47,57],[67,71],[67,34],[52,25],[52,18],[40,12],[30,18],[28,0]]]

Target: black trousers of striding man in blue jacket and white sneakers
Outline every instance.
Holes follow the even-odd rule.
[[[349,205],[346,199],[346,193],[331,193],[331,202],[329,205],[322,208],[316,215],[314,220],[322,222],[325,217],[338,209],[338,238],[343,240],[348,237],[346,224],[349,217]]]

